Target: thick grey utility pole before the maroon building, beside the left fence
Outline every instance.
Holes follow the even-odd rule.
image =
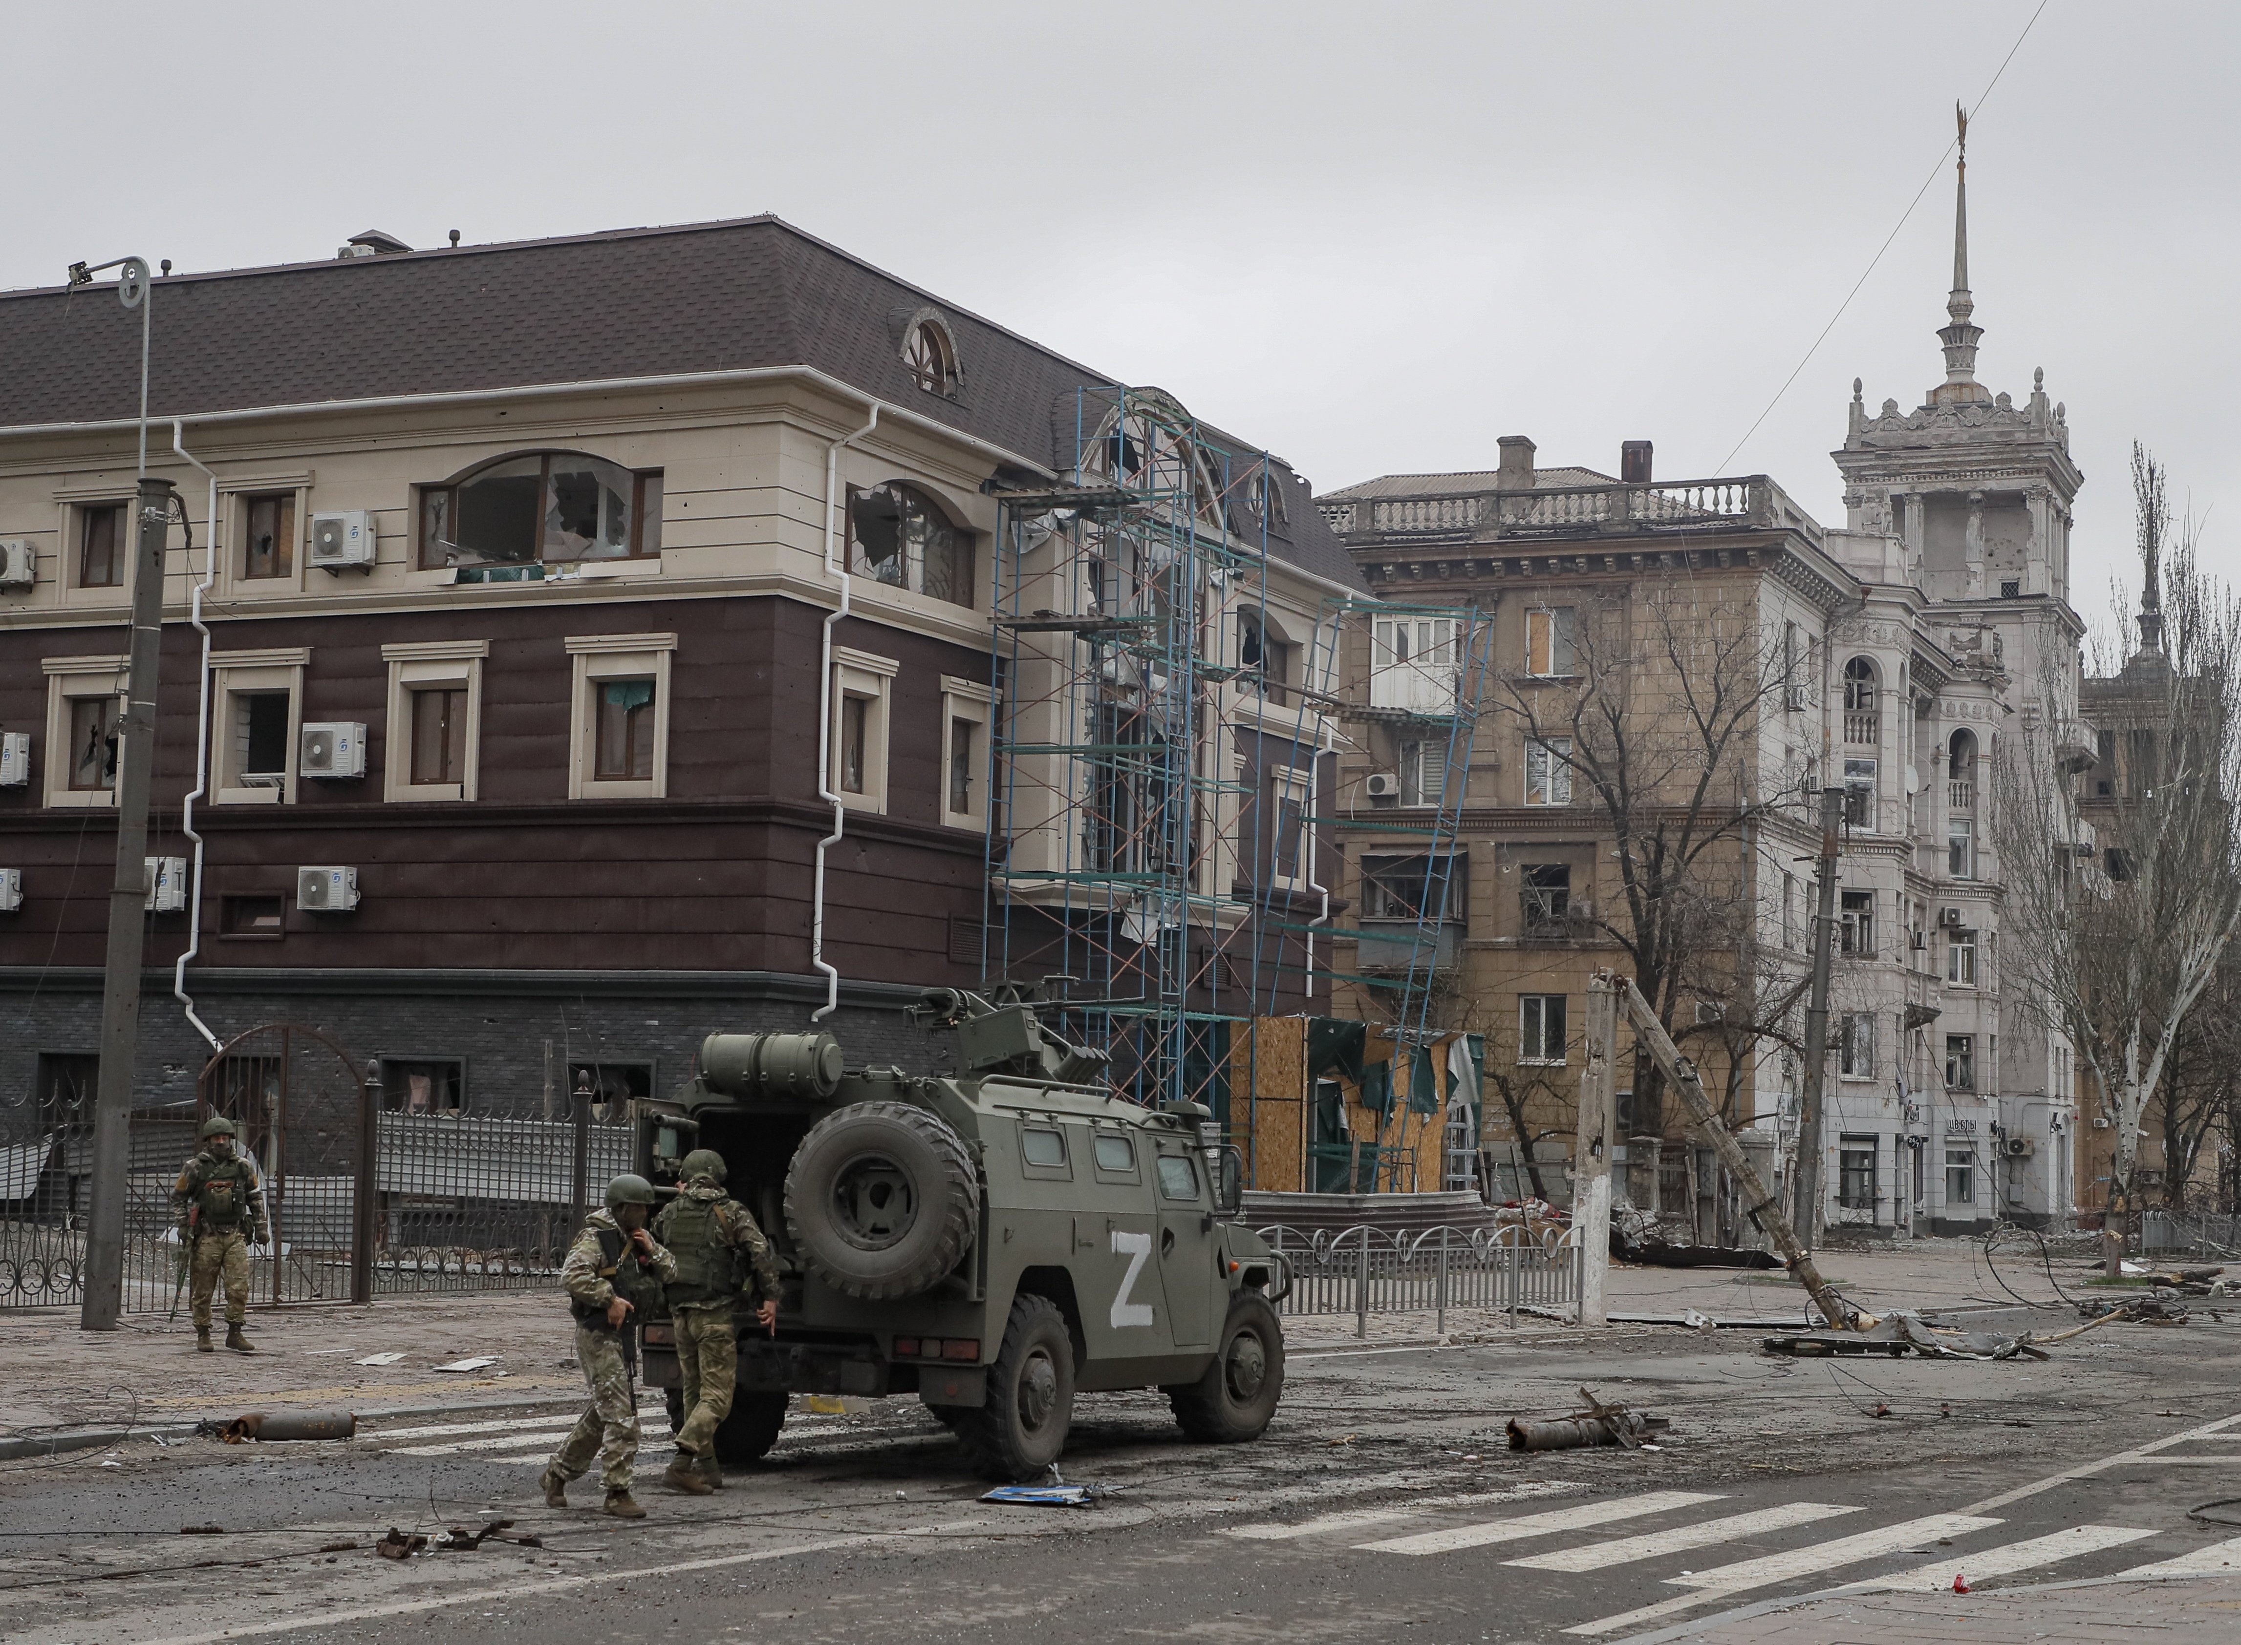
[[[148,935],[148,791],[155,784],[155,681],[164,636],[164,538],[168,480],[139,482],[132,549],[132,648],[125,722],[117,740],[117,876],[101,993],[101,1087],[94,1096],[94,1195],[85,1224],[85,1291],[78,1327],[114,1331],[123,1309],[125,1172],[130,1168],[132,1062],[139,1049],[141,950]]]

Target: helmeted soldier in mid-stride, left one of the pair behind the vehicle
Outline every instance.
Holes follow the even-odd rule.
[[[623,1329],[632,1313],[659,1300],[659,1284],[677,1277],[677,1260],[645,1230],[652,1215],[654,1186],[623,1172],[607,1183],[607,1208],[585,1217],[560,1264],[560,1284],[576,1316],[576,1363],[592,1385],[592,1403],[538,1479],[554,1508],[567,1506],[567,1481],[583,1477],[596,1455],[598,1479],[607,1488],[605,1511],[616,1519],[645,1517],[630,1495],[630,1466],[639,1457],[639,1396],[623,1358]]]

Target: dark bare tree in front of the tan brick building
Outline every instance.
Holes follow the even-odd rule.
[[[1759,993],[1739,959],[1755,919],[1748,840],[1797,798],[1795,773],[1757,769],[1759,715],[1788,684],[1786,659],[1741,583],[1638,583],[1575,612],[1571,632],[1549,634],[1571,657],[1490,679],[1484,704],[1524,728],[1528,782],[1546,769],[1573,805],[1600,811],[1620,896],[1598,903],[1593,928],[1625,950],[1681,1040],[1696,1033],[1696,1000],[1726,1011]],[[1663,1076],[1640,1049],[1634,1125],[1663,1132]]]

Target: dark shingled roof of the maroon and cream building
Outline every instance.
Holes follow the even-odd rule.
[[[148,408],[159,417],[813,365],[1060,471],[1073,464],[1076,394],[1112,383],[778,217],[175,273],[155,285]],[[923,307],[957,341],[955,399],[923,392],[903,368],[901,327]],[[105,285],[0,294],[0,428],[137,410],[139,314]],[[1365,587],[1289,471],[1286,493],[1289,522],[1271,529],[1277,558]]]

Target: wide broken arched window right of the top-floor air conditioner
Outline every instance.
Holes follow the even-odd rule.
[[[419,565],[459,567],[462,583],[513,580],[542,565],[657,554],[659,468],[630,471],[580,450],[529,450],[419,493]],[[500,567],[520,569],[493,576]]]

